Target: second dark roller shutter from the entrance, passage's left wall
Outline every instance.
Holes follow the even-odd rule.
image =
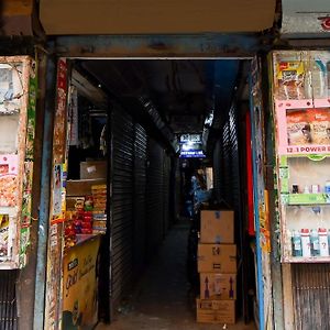
[[[134,142],[134,274],[141,273],[146,257],[146,142],[145,130],[136,124]]]

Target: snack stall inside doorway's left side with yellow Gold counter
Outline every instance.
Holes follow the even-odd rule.
[[[99,246],[107,230],[105,107],[101,91],[59,59],[46,329],[92,329],[98,321]]]

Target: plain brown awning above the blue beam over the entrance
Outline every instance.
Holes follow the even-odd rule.
[[[40,0],[47,34],[258,32],[275,0]]]

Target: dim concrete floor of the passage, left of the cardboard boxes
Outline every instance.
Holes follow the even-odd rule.
[[[111,324],[97,330],[254,330],[253,323],[201,324],[196,322],[195,294],[187,280],[187,226],[167,234],[157,256],[146,270],[135,293],[121,306]]]

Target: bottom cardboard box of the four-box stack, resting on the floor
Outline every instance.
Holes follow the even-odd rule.
[[[197,322],[235,323],[235,300],[196,299]]]

